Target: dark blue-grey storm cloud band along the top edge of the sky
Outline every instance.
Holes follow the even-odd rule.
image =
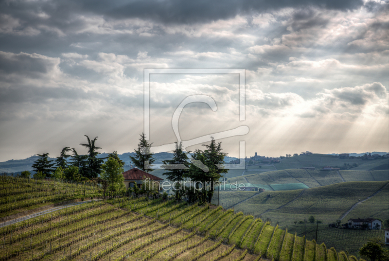
[[[30,22],[41,22],[46,19],[44,16],[36,16],[43,11],[52,16],[50,20],[53,26],[77,30],[83,26],[81,21],[72,19],[77,13],[95,13],[113,19],[136,17],[163,23],[203,23],[285,7],[317,6],[325,9],[352,10],[362,5],[362,0],[59,0],[43,3],[5,1],[0,6],[3,12],[12,13],[13,16]],[[61,22],[64,20],[67,20],[66,24]]]

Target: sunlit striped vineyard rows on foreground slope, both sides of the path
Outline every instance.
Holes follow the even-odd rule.
[[[26,200],[20,190],[26,184],[36,194],[50,188],[72,195],[87,190],[83,184],[34,182],[1,179],[0,200],[7,205],[14,195],[18,206]],[[12,189],[6,190],[6,184]],[[233,209],[147,197],[93,201],[4,226],[0,247],[1,261],[316,261],[346,256]]]

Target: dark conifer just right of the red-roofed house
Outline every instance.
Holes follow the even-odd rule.
[[[183,181],[184,177],[188,174],[189,158],[182,150],[182,142],[179,144],[176,142],[176,150],[173,152],[173,159],[163,160],[162,169],[168,170],[164,175],[173,182]],[[176,199],[178,199],[178,190],[176,190]]]

